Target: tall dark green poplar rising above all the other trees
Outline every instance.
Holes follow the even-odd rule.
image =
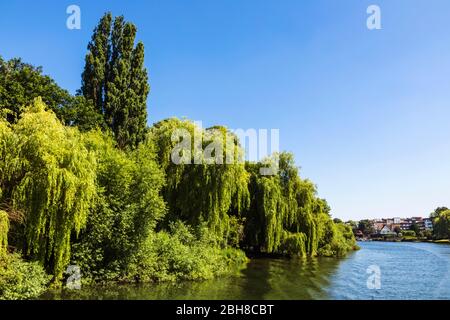
[[[100,20],[88,45],[81,93],[94,102],[121,149],[145,137],[147,96],[144,45],[135,45],[136,26],[110,13]]]

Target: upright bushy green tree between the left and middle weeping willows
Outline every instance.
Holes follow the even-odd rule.
[[[73,263],[94,280],[122,279],[165,213],[164,176],[150,143],[125,152],[97,131],[85,141],[97,159],[97,194],[87,227],[75,241]]]

